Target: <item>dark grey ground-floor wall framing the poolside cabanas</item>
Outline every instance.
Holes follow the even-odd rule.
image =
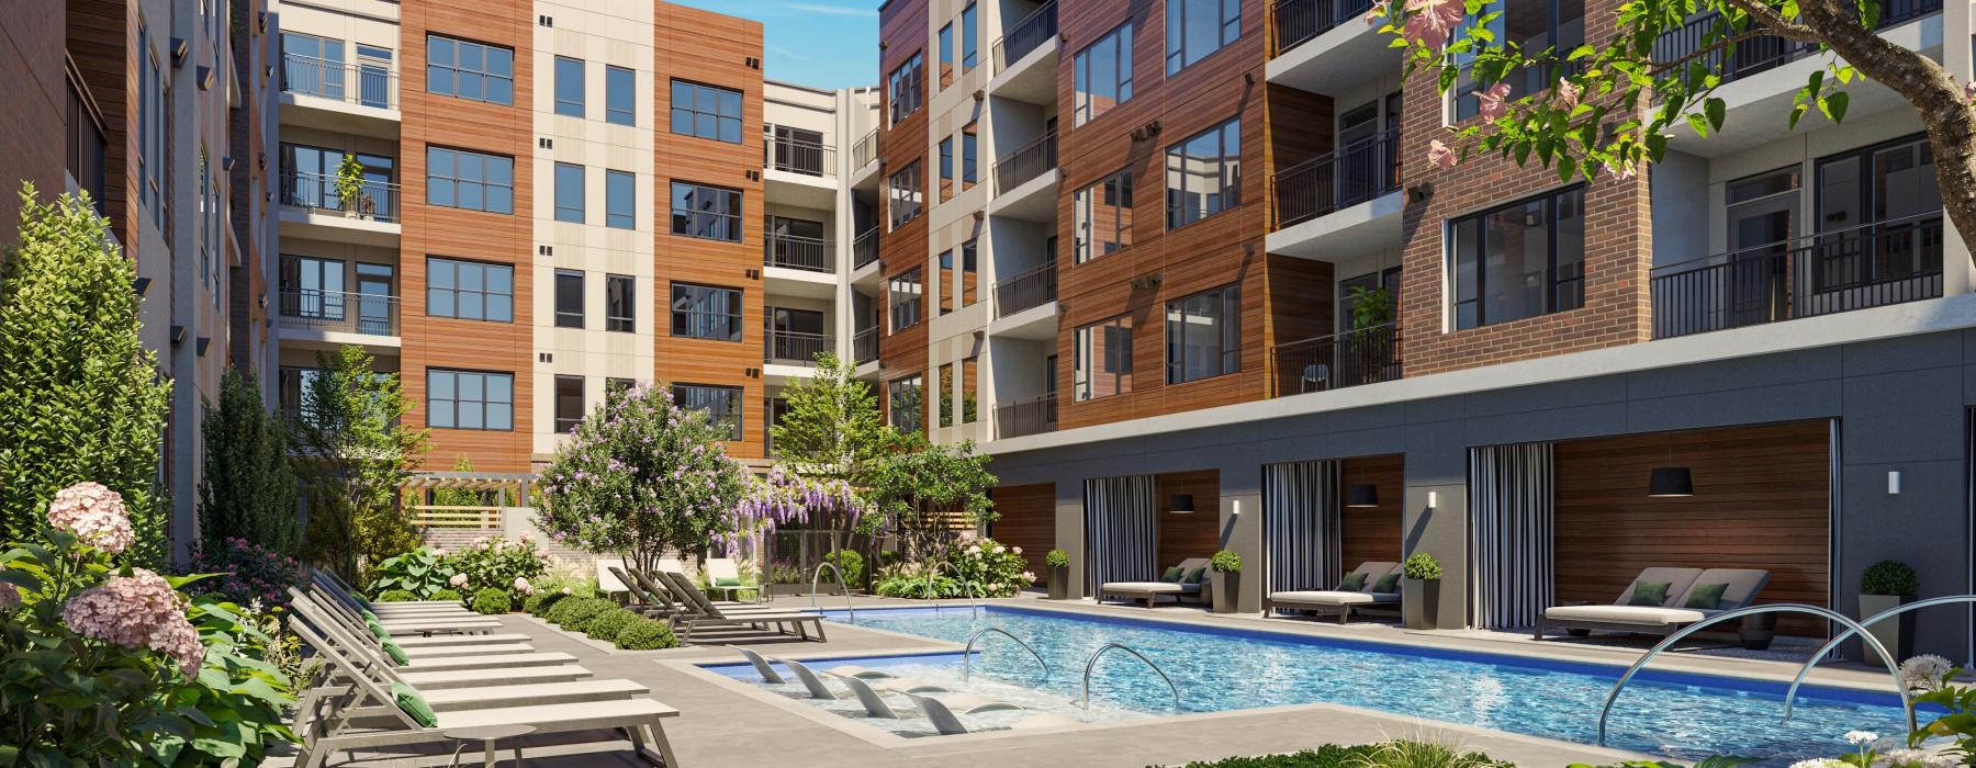
[[[1857,610],[1859,573],[1881,559],[1913,565],[1925,596],[1970,590],[1964,424],[1976,403],[1976,332],[1589,373],[1563,383],[1004,452],[992,470],[1004,484],[1057,484],[1057,545],[1071,553],[1073,578],[1083,584],[1085,478],[1215,468],[1229,549],[1261,563],[1263,464],[1405,454],[1405,551],[1441,559],[1441,622],[1458,626],[1468,594],[1470,446],[1836,419],[1834,608]],[[1899,496],[1887,494],[1887,472],[1901,472]],[[1229,525],[1235,499],[1241,519]],[[1243,608],[1259,606],[1261,588],[1263,578],[1243,578]],[[1962,610],[1925,612],[1919,630],[1917,652],[1968,655]]]

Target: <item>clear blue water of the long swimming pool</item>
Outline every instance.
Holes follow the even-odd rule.
[[[848,620],[842,610],[826,614]],[[1336,703],[1587,744],[1597,742],[1599,705],[1622,671],[1508,653],[1014,606],[988,606],[980,618],[966,608],[860,610],[856,624],[956,644],[980,628],[1004,628],[1035,646],[1049,661],[1049,675],[1043,677],[1020,646],[988,634],[976,644],[976,679],[986,675],[996,685],[1035,687],[1039,695],[1067,701],[1077,701],[1085,659],[1107,642],[1118,642],[1166,669],[1180,687],[1182,713]],[[865,659],[856,663],[869,665]],[[911,663],[958,667],[960,657],[929,655]],[[1608,746],[1684,760],[1707,754],[1788,760],[1846,750],[1846,730],[1905,732],[1893,693],[1806,687],[1792,721],[1780,725],[1782,693],[1782,683],[1648,669],[1614,705]],[[1126,653],[1107,653],[1099,661],[1091,699],[1095,707],[1172,713],[1166,683]]]

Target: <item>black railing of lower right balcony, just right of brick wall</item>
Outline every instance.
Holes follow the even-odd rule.
[[[1654,338],[1865,310],[1942,294],[1942,213],[1654,269]]]

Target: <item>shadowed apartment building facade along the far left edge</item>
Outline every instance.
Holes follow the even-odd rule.
[[[20,4],[0,16],[0,178],[87,192],[136,261],[142,338],[172,379],[160,482],[180,555],[196,539],[206,403],[229,363],[273,359],[267,192],[273,36],[259,0]],[[14,239],[18,188],[0,193]]]

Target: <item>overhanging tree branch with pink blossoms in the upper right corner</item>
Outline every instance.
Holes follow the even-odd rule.
[[[1846,118],[1846,87],[1877,81],[1915,107],[1935,150],[1942,205],[1964,241],[1976,243],[1976,85],[1956,83],[1938,61],[1881,38],[1877,0],[1630,0],[1612,26],[1587,24],[1610,36],[1561,49],[1525,49],[1498,39],[1498,0],[1385,0],[1367,24],[1407,49],[1407,75],[1425,71],[1446,93],[1464,75],[1478,85],[1480,120],[1435,140],[1429,162],[1452,168],[1470,152],[1535,158],[1557,176],[1591,180],[1601,168],[1630,176],[1668,150],[1670,128],[1688,124],[1707,136],[1723,130],[1725,103],[1715,89],[1727,81],[1739,45],[1782,38],[1816,47],[1828,61],[1798,89],[1792,128],[1814,107],[1832,122]],[[1595,16],[1587,14],[1587,22]],[[1660,45],[1668,32],[1695,34],[1693,47]],[[1774,45],[1774,41],[1769,41]],[[1840,63],[1844,59],[1844,63]],[[1518,93],[1529,75],[1541,89]],[[1976,249],[1972,249],[1976,251]]]

